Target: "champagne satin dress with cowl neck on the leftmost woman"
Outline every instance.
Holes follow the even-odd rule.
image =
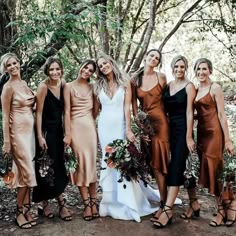
[[[14,178],[12,188],[37,185],[34,171],[35,132],[33,107],[35,96],[25,84],[24,91],[12,86],[13,98],[10,108],[10,143],[13,154]],[[4,122],[4,120],[3,120]]]

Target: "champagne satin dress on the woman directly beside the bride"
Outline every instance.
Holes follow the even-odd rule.
[[[97,181],[97,133],[92,114],[92,88],[86,96],[81,96],[70,83],[70,102],[71,147],[79,163],[76,171],[70,175],[71,183],[89,187],[90,183]]]

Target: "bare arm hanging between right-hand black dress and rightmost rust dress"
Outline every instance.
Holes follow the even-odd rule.
[[[187,92],[187,133],[186,133],[186,142],[189,149],[189,152],[194,151],[194,141],[193,141],[193,100],[196,97],[196,89],[192,83],[188,84],[186,87]]]

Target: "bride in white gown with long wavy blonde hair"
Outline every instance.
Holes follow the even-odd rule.
[[[135,220],[155,212],[159,207],[151,206],[149,200],[160,201],[159,191],[143,182],[126,181],[118,183],[120,173],[107,167],[104,161],[105,147],[115,139],[134,141],[130,127],[131,87],[129,80],[119,70],[116,62],[103,55],[97,60],[98,78],[95,84],[95,114],[101,112],[98,120],[98,136],[102,148],[100,186],[103,190],[99,207],[101,216],[114,219]],[[96,102],[97,100],[97,102]],[[123,187],[126,185],[126,188]]]

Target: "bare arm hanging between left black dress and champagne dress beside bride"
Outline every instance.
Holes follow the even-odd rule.
[[[71,113],[71,103],[70,103],[70,85],[65,84],[64,90],[64,102],[65,102],[65,115],[64,115],[64,123],[65,123],[65,137],[63,139],[66,146],[69,146],[71,143],[71,127],[70,127],[70,113]]]

